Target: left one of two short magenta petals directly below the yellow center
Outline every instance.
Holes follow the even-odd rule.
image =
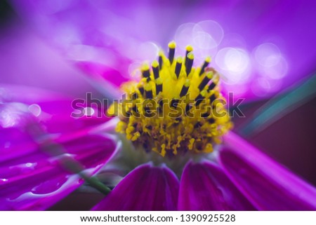
[[[140,165],[93,210],[176,210],[179,182],[168,168]]]

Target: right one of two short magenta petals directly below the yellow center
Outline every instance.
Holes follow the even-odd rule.
[[[255,210],[223,170],[211,162],[187,163],[178,210]]]

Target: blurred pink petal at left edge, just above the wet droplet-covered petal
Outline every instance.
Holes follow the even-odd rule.
[[[32,114],[34,120],[41,123],[46,132],[65,133],[88,129],[110,119],[105,116],[107,105],[103,105],[103,102],[100,102],[96,107],[97,104],[95,103],[90,104],[86,100],[80,101],[74,103],[68,97],[38,88],[1,85],[1,123],[4,121],[8,123],[9,119],[13,123],[12,114],[18,114],[18,111],[22,110]],[[20,114],[20,117],[22,116],[25,114]],[[11,130],[15,130],[19,124],[10,125],[10,127]]]

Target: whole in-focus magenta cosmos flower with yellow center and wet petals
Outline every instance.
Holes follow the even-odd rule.
[[[173,44],[168,58],[162,54],[162,60],[153,62],[152,69],[143,67],[143,79],[139,83],[124,85],[126,95],[133,100],[127,110],[123,110],[124,102],[113,104],[108,110],[119,115],[116,130],[133,143],[127,161],[138,158],[140,165],[93,210],[315,210],[315,188],[237,135],[227,134],[231,123],[228,114],[222,116],[226,109],[220,103],[216,113],[202,112],[220,98],[218,74],[208,69],[208,59],[204,66],[192,67],[191,48],[187,48],[189,53],[184,62],[180,57],[173,60]],[[13,92],[12,88],[8,90]],[[174,98],[176,93],[178,100]],[[192,106],[181,101],[187,93],[195,99]],[[61,125],[56,130],[60,118],[45,120],[51,105],[58,105],[58,110],[62,110],[62,103],[55,97],[53,102],[46,100],[45,107],[34,99],[32,102],[36,104],[27,104],[29,100],[25,96],[23,100],[8,94],[2,96],[1,132],[7,135],[1,158],[3,210],[45,209],[79,186],[84,181],[82,175],[88,181],[87,177],[114,154],[113,139],[106,135],[110,131],[107,123],[101,129],[99,126],[76,132],[71,125],[81,125],[80,121],[74,122],[74,118],[67,116],[61,121],[68,122],[68,128]],[[168,96],[171,102],[167,106],[182,105],[186,111],[193,109],[193,114],[150,116],[143,104],[136,104],[137,100],[144,99],[168,100]],[[209,100],[203,102],[206,98]],[[113,109],[115,106],[119,106],[118,112]],[[156,107],[160,106],[158,103]],[[162,110],[169,113],[168,107]],[[66,112],[62,110],[62,114]],[[102,118],[98,120],[104,123]],[[84,127],[90,124],[84,123]],[[60,135],[49,135],[52,132]],[[220,137],[224,142],[219,155],[211,159],[208,155],[213,154],[213,146],[220,142]],[[21,139],[22,143],[8,141],[13,138]],[[121,151],[123,159],[118,163],[127,165],[126,151]],[[49,157],[50,154],[53,156]],[[190,158],[194,161],[188,161]],[[180,183],[175,172],[180,172]]]

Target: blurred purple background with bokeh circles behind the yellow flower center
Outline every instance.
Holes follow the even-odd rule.
[[[223,92],[244,98],[235,132],[316,186],[315,11],[315,1],[3,0],[0,83],[103,97],[94,76],[119,86],[169,41],[178,54],[191,44],[195,63],[212,57]]]

